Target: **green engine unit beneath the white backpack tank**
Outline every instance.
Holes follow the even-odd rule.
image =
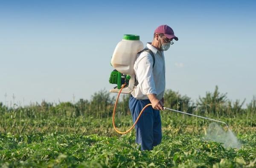
[[[122,74],[118,72],[117,70],[113,70],[110,74],[109,83],[111,84],[117,84],[117,89],[121,89],[122,84],[129,84],[131,76]],[[116,88],[114,87],[114,88]]]

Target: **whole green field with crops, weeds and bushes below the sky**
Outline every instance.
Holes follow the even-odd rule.
[[[112,126],[114,98],[101,90],[90,101],[21,107],[0,103],[1,167],[256,167],[256,100],[245,105],[226,94],[207,92],[192,102],[167,90],[165,106],[224,121],[220,123],[162,111],[162,143],[141,151],[135,131],[117,134]],[[121,131],[132,125],[128,96],[116,109]],[[236,141],[237,140],[237,141]],[[236,144],[234,144],[236,143]]]

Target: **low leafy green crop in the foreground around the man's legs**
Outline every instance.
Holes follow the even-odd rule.
[[[240,137],[240,149],[202,136],[163,136],[152,151],[140,151],[134,134],[0,134],[0,165],[9,167],[255,167],[256,136]]]

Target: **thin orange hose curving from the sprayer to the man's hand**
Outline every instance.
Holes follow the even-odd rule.
[[[119,99],[119,95],[120,95],[120,93],[122,92],[122,89],[125,87],[125,85],[126,85],[126,84],[123,84],[123,85],[122,85],[122,87],[121,87],[121,89],[120,89],[120,91],[119,91],[119,93],[118,93],[118,95],[117,95],[116,103],[115,103],[115,106],[114,106],[114,109],[113,109],[112,123],[113,123],[114,129],[115,129],[116,132],[119,133],[119,134],[126,134],[126,133],[130,132],[130,131],[134,128],[134,126],[137,124],[137,122],[138,122],[138,120],[140,119],[140,116],[142,115],[142,113],[143,113],[143,111],[145,110],[145,108],[147,108],[148,106],[151,106],[151,105],[152,105],[152,104],[147,104],[147,105],[141,110],[141,112],[140,112],[140,114],[139,114],[137,120],[135,121],[134,125],[131,126],[130,129],[128,129],[128,130],[125,131],[125,132],[120,132],[120,131],[118,131],[118,130],[116,129],[116,125],[115,125],[116,105],[117,105],[117,102],[118,102],[118,99]]]

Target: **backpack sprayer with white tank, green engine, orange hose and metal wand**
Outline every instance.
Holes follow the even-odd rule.
[[[134,73],[134,62],[137,58],[137,53],[140,53],[141,51],[149,52],[154,60],[154,55],[151,54],[151,52],[148,51],[148,49],[143,50],[143,43],[140,41],[140,36],[125,34],[123,36],[122,41],[120,41],[116,45],[113,56],[111,58],[111,65],[115,68],[115,70],[113,70],[111,72],[111,75],[109,78],[109,83],[117,84],[117,86],[114,87],[113,89],[111,89],[110,92],[118,93],[116,102],[114,105],[114,109],[113,109],[112,124],[113,124],[113,128],[115,129],[115,131],[118,132],[119,134],[126,134],[126,133],[130,132],[134,128],[134,126],[137,124],[138,120],[140,119],[140,116],[143,114],[143,111],[148,106],[152,106],[152,104],[147,104],[141,110],[141,112],[140,112],[139,116],[137,117],[137,120],[134,122],[133,126],[131,126],[131,128],[128,129],[127,131],[120,132],[118,129],[116,129],[116,125],[115,125],[116,105],[118,103],[118,99],[119,99],[119,96],[121,93],[130,94],[134,90],[134,87],[137,87],[137,84],[136,84],[137,82],[136,82],[135,73]],[[180,112],[178,110],[169,109],[166,107],[163,107],[163,109],[168,109],[168,110],[171,110],[174,112]],[[219,120],[201,117],[201,116],[189,114],[186,112],[180,112],[180,113],[186,114],[186,115],[192,115],[192,116],[199,117],[199,118],[204,118],[207,120],[212,120],[212,121],[219,122],[219,123],[224,123]],[[227,123],[224,123],[224,124],[228,128]]]

